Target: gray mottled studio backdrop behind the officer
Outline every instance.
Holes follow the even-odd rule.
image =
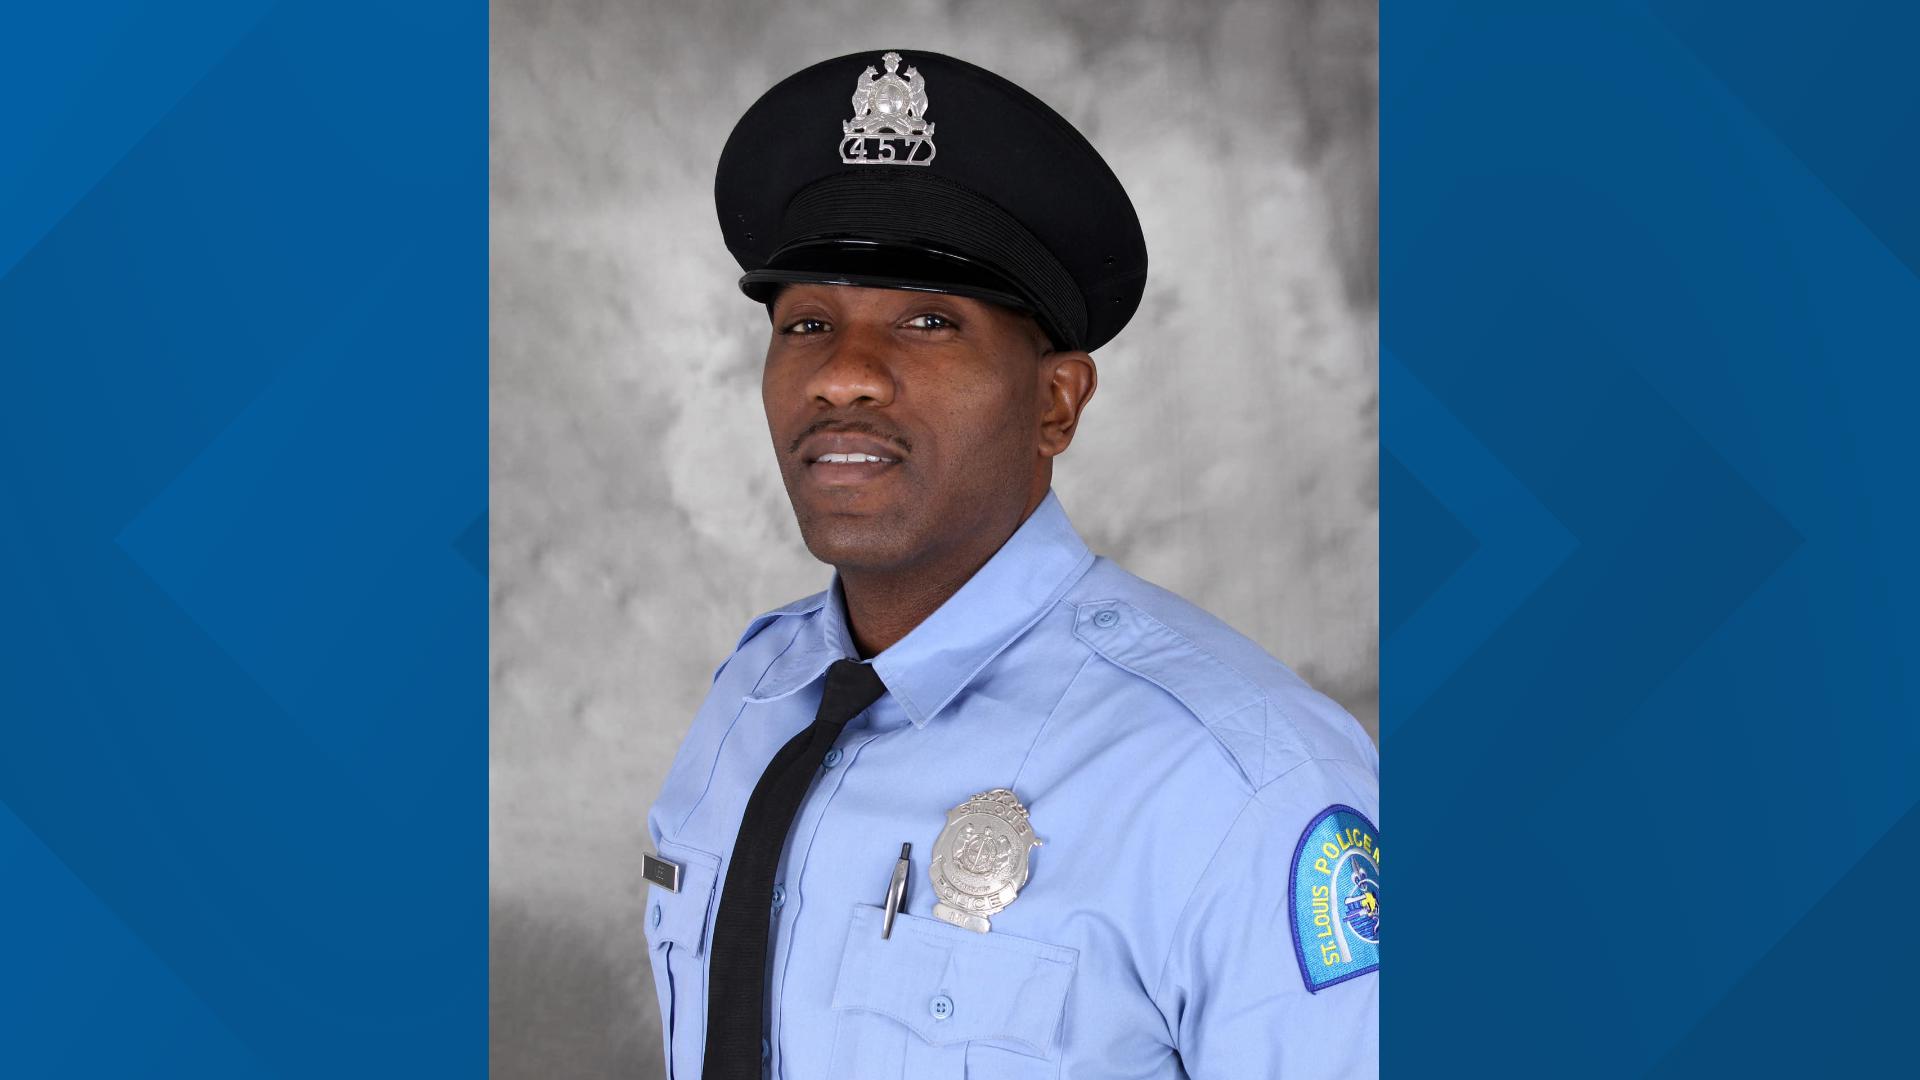
[[[645,809],[745,623],[829,573],[774,465],[714,160],[780,77],[887,46],[1027,86],[1140,211],[1146,300],[1056,469],[1089,544],[1373,728],[1373,4],[495,0],[499,1078],[660,1074]]]

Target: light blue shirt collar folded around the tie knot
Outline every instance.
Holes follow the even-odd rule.
[[[925,726],[1006,646],[1039,623],[1092,567],[1092,552],[1073,530],[1058,496],[1041,505],[1000,546],[960,592],[904,638],[874,657],[887,692],[914,726]],[[787,651],[755,686],[751,701],[772,701],[812,684],[837,659],[858,659],[839,575],[808,613]]]

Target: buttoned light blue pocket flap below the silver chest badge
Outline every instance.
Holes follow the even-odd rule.
[[[877,907],[852,909],[833,1009],[881,1013],[935,1045],[989,1042],[1054,1055],[1079,951],[904,911],[881,940],[879,922]]]

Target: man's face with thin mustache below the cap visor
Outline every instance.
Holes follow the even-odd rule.
[[[977,567],[1046,494],[1048,459],[1066,440],[1050,430],[1054,365],[1033,319],[960,296],[843,284],[787,286],[772,315],[760,394],[787,498],[820,561],[877,573]]]

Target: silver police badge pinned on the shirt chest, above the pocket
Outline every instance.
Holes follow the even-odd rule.
[[[933,842],[933,915],[985,934],[1027,884],[1027,851],[1041,846],[1027,807],[1006,788],[981,792],[947,811],[947,828]]]

